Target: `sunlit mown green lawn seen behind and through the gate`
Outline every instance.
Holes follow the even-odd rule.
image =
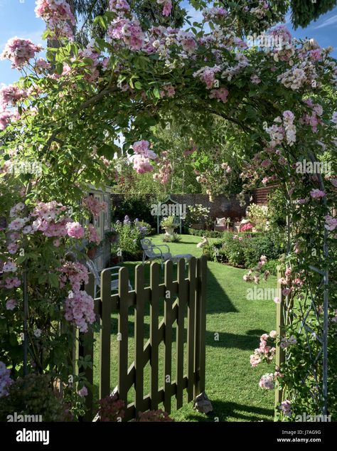
[[[154,243],[162,243],[156,235]],[[169,243],[173,255],[191,253],[196,257],[202,250],[196,244],[202,238],[182,235],[180,243]],[[129,268],[130,280],[134,286],[134,266],[137,262],[125,264]],[[274,392],[262,391],[258,383],[263,373],[272,371],[266,364],[257,368],[250,366],[250,354],[258,347],[260,335],[275,329],[276,306],[272,301],[252,301],[246,299],[247,288],[251,285],[242,280],[245,270],[208,262],[207,286],[207,332],[206,332],[206,393],[213,403],[213,415],[205,416],[193,410],[192,403],[186,403],[171,416],[178,421],[271,421],[273,419]],[[146,281],[149,281],[149,263],[146,263]],[[262,287],[275,287],[276,277],[262,282]],[[149,338],[149,309],[145,317],[145,339]],[[131,312],[130,312],[131,313]],[[162,315],[162,312],[161,312]],[[133,315],[129,317],[129,364],[134,357]],[[161,319],[161,318],[160,318]],[[112,334],[117,332],[117,317],[112,317]],[[174,332],[174,331],[173,331]],[[219,340],[215,340],[215,333]],[[97,337],[98,338],[98,337]],[[97,340],[96,349],[98,351]],[[175,337],[173,341],[175,353]],[[164,345],[161,344],[161,356]],[[96,353],[97,356],[98,353]],[[112,389],[117,385],[117,340],[112,336],[111,350]],[[98,360],[95,359],[97,368]],[[174,366],[173,366],[174,374]],[[149,390],[149,364],[145,370],[144,393]],[[164,380],[160,365],[161,380]],[[95,383],[98,373],[95,371]],[[174,400],[173,403],[174,405]]]

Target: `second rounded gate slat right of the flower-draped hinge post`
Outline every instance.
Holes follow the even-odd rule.
[[[118,312],[118,392],[119,399],[127,404],[127,357],[128,357],[128,334],[129,334],[129,309],[127,304],[127,293],[129,291],[129,272],[126,267],[119,270],[119,312]]]

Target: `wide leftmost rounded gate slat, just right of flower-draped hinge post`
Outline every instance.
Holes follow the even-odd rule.
[[[101,272],[102,328],[100,331],[100,398],[110,393],[111,270]]]

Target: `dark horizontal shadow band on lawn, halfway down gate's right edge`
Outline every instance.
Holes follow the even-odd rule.
[[[247,335],[206,331],[206,345],[214,346],[215,348],[237,348],[248,351],[259,346],[261,334],[264,334],[264,331],[256,331],[255,334],[249,334],[248,331]]]

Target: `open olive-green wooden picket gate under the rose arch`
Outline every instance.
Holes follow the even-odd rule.
[[[165,262],[164,283],[160,283],[160,265],[151,263],[150,286],[145,287],[144,266],[135,268],[135,287],[129,292],[129,273],[119,270],[119,290],[111,292],[110,270],[101,273],[100,297],[95,299],[95,313],[100,320],[99,398],[112,393],[117,387],[119,399],[131,400],[125,408],[124,420],[135,418],[139,411],[157,409],[159,403],[171,412],[171,398],[176,397],[176,408],[183,405],[187,392],[188,402],[205,390],[205,294],[207,260],[191,258],[188,271],[184,260],[177,264],[177,280],[173,280],[173,262]],[[90,275],[85,287],[94,293],[94,277]],[[144,308],[149,304],[149,339],[144,344]],[[159,322],[160,306],[164,318]],[[185,340],[185,313],[187,310],[187,340]],[[117,337],[112,335],[112,313],[118,317]],[[134,361],[128,366],[129,320],[134,313]],[[175,374],[172,375],[172,330],[176,322]],[[184,355],[184,344],[186,352]],[[159,345],[164,342],[164,381],[159,381]],[[111,347],[118,346],[117,381],[110,375]],[[80,356],[94,361],[93,332],[80,337]],[[112,362],[114,363],[114,362]],[[144,367],[150,364],[150,389],[144,395]],[[185,365],[184,365],[185,363]],[[186,366],[186,368],[184,368]],[[85,370],[87,380],[93,384],[93,370]],[[130,390],[134,387],[134,390]],[[86,398],[85,420],[91,421],[96,410],[92,391]]]

